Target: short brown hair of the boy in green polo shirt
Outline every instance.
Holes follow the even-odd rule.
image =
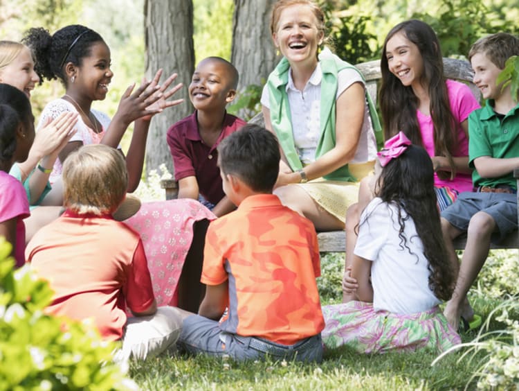
[[[519,38],[509,33],[495,33],[482,37],[472,45],[468,61],[473,55],[483,53],[499,69],[512,55],[519,55]]]

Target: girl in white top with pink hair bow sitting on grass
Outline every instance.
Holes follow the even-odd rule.
[[[400,132],[379,162],[376,197],[361,216],[351,276],[343,280],[356,300],[323,308],[323,342],[365,353],[443,351],[460,341],[438,308],[452,295],[455,272],[441,235],[431,159]]]

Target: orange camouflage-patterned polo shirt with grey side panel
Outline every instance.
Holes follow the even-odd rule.
[[[229,281],[224,331],[283,345],[315,336],[325,326],[319,276],[313,224],[282,206],[276,195],[250,196],[210,223],[201,281]]]

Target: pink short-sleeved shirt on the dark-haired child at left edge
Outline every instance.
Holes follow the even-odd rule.
[[[0,223],[17,218],[15,255],[17,268],[25,263],[25,224],[30,216],[29,201],[24,186],[15,177],[0,171]]]

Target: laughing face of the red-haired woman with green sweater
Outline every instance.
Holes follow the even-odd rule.
[[[294,4],[283,8],[272,35],[275,46],[291,64],[317,65],[317,49],[324,33],[307,5]]]

